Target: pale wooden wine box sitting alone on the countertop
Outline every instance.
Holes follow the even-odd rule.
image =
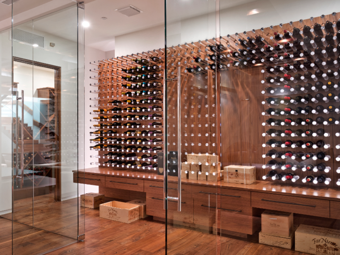
[[[252,166],[230,165],[224,167],[224,182],[252,184],[256,181],[256,168]]]

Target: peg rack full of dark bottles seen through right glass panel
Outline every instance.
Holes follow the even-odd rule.
[[[261,120],[253,123],[261,128],[249,135],[257,130],[263,141],[253,151],[263,154],[263,161],[254,160],[263,162],[257,179],[340,185],[339,17],[333,13],[221,38],[229,48],[224,53],[229,75],[254,77],[248,93],[259,105],[254,110],[262,109]]]

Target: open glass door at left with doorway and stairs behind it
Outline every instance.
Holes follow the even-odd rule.
[[[12,163],[12,206],[1,221],[12,221],[12,251],[5,254],[20,255],[45,254],[85,238],[78,199],[84,192],[73,182],[73,171],[84,168],[78,147],[84,137],[84,29],[78,25],[84,7],[71,1],[58,11],[40,6],[50,13],[41,17],[28,2],[11,5],[12,27],[1,33],[3,59],[12,46],[12,61],[2,60],[12,69],[11,93],[2,89],[6,79],[1,82],[1,122],[7,120],[12,131],[7,144],[1,139],[2,148],[12,147],[1,162]],[[1,68],[3,76],[6,70]]]

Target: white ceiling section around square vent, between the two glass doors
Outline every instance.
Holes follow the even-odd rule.
[[[115,11],[133,5],[143,11],[132,17]],[[107,17],[102,20],[102,17]],[[85,44],[102,50],[114,50],[115,36],[164,24],[163,0],[96,0],[85,4]]]

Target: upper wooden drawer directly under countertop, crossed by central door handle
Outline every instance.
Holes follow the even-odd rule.
[[[163,196],[163,182],[144,181],[144,192]],[[177,197],[177,183],[168,183],[168,196]],[[191,185],[182,184],[182,199],[191,198]]]

